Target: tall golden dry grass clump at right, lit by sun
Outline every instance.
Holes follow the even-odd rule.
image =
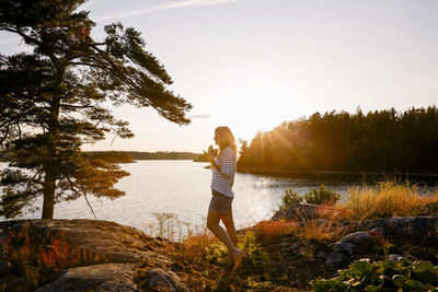
[[[426,192],[426,195],[424,195]],[[438,192],[430,194],[417,185],[383,182],[376,187],[351,188],[348,199],[337,209],[344,220],[430,214],[438,205]]]

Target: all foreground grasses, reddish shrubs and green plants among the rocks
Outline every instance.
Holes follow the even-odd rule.
[[[296,207],[299,197],[293,189],[288,189],[281,209]],[[430,238],[437,237],[438,226],[434,234],[412,241],[370,231],[367,236],[371,242],[364,252],[368,254],[354,254],[347,259],[349,266],[327,266],[320,255],[344,238],[348,229],[348,234],[355,231],[354,224],[349,226],[350,220],[437,215],[437,191],[425,196],[418,186],[384,182],[374,187],[350,189],[345,200],[336,201],[338,195],[325,187],[309,191],[304,198],[322,202],[314,217],[268,220],[239,231],[239,247],[245,250],[245,256],[235,270],[227,248],[204,225],[189,226],[174,214],[157,213],[157,222],[145,225],[145,232],[161,242],[160,253],[173,259],[172,270],[189,290],[383,291],[401,288],[408,291],[415,287],[425,289],[415,291],[434,291],[438,246]],[[62,234],[41,236],[26,230],[10,233],[2,240],[1,249],[1,260],[10,262],[14,272],[26,279],[16,285],[22,291],[41,287],[58,270],[106,260],[76,247]],[[390,260],[389,255],[394,253],[405,258]],[[152,268],[148,262],[141,267]],[[336,275],[338,268],[344,270]],[[143,280],[138,281],[141,285]]]

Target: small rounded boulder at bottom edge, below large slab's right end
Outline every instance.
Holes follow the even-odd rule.
[[[147,270],[143,275],[147,291],[188,291],[180,278],[172,271],[162,269]]]

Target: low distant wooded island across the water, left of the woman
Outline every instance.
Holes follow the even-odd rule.
[[[90,151],[90,155],[111,163],[132,163],[136,160],[193,160],[200,154],[192,152]]]

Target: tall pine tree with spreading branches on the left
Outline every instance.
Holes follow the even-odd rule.
[[[105,26],[104,40],[79,7],[87,0],[0,0],[0,31],[19,35],[32,52],[0,55],[0,147],[9,162],[1,183],[0,214],[24,207],[53,219],[55,203],[81,196],[117,198],[114,184],[128,173],[81,151],[113,132],[134,135],[104,105],[152,107],[186,125],[192,108],[169,91],[172,79],[146,51],[140,33],[120,23]]]

